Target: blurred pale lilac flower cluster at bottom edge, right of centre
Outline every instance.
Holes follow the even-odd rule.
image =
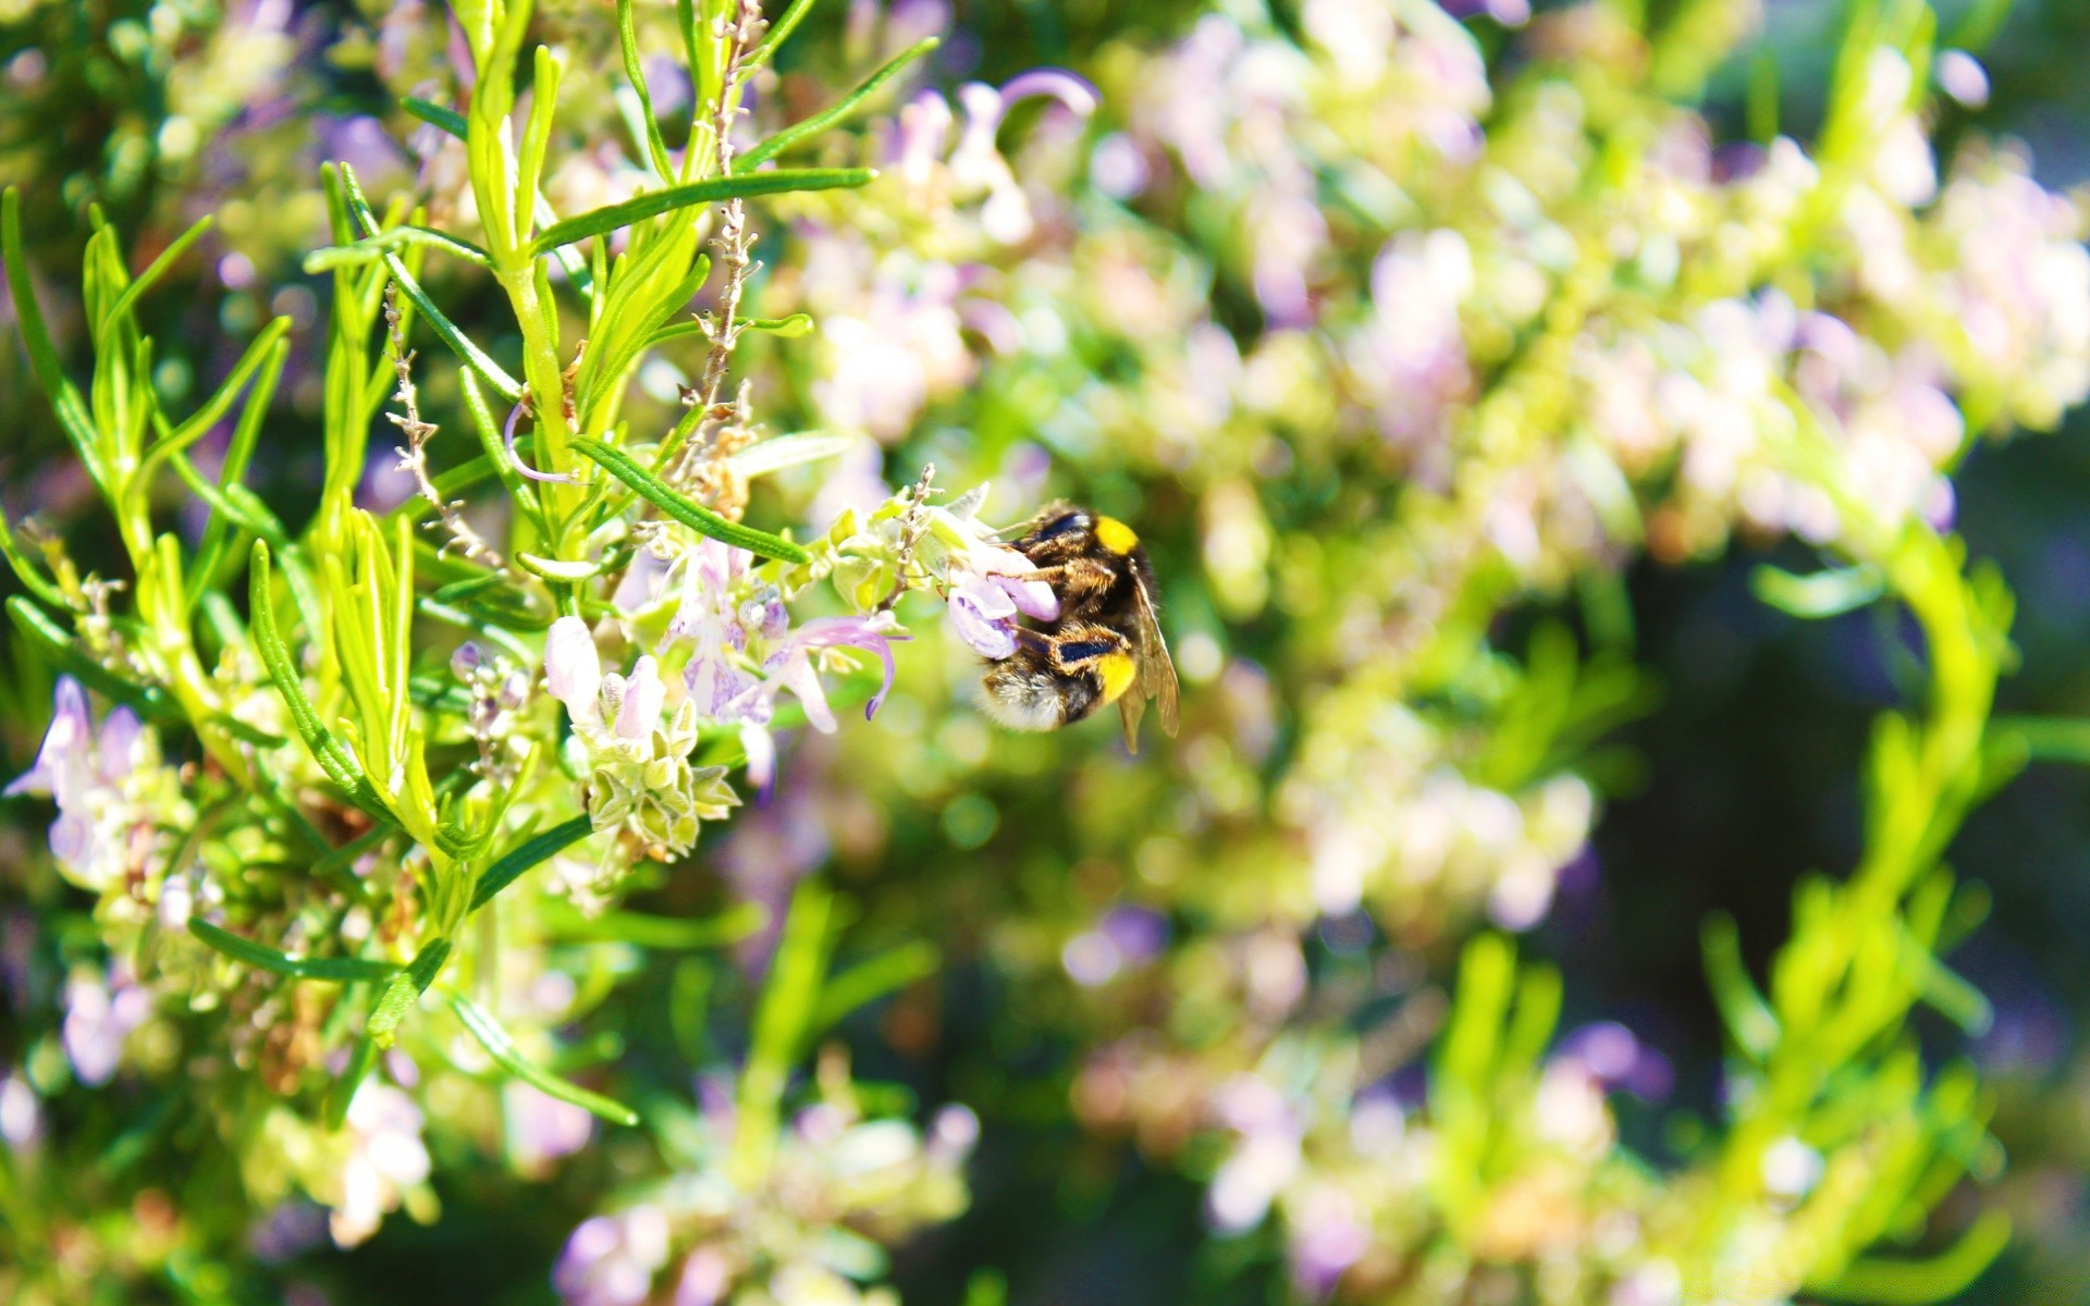
[[[1649,1239],[1655,1189],[1613,1151],[1607,1095],[1670,1091],[1668,1062],[1624,1026],[1568,1034],[1515,1095],[1490,1101],[1488,1156],[1434,1118],[1427,1089],[1390,1087],[1381,1072],[1384,1053],[1348,1039],[1183,1051],[1131,1036],[1091,1057],[1074,1103],[1091,1128],[1131,1133],[1156,1158],[1183,1160],[1193,1139],[1212,1141],[1214,1233],[1273,1222],[1308,1300],[1338,1283],[1398,1302],[1457,1298],[1499,1283],[1501,1264],[1547,1266],[1534,1300],[1549,1304],[1685,1300],[1674,1258]],[[1478,1191],[1473,1170],[1507,1158],[1513,1168],[1492,1174],[1488,1197],[1461,1208],[1457,1193]],[[1461,1252],[1430,1254],[1446,1218],[1459,1222]]]

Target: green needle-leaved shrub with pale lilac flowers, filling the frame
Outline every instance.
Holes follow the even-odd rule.
[[[82,387],[8,192],[115,524],[6,541],[56,675],[8,794],[92,901],[0,1082],[13,1296],[351,1300],[318,1245],[535,1185],[539,1296],[886,1302],[997,1130],[1083,1135],[1066,1191],[1129,1141],[1296,1300],[1914,1302],[1996,1258],[1946,850],[2073,736],[1992,719],[2015,604],[1952,476],[2090,395],[2090,211],[1933,146],[1988,86],[1929,6],[1852,6],[1818,127],[1758,90],[1747,138],[1703,109],[1739,0],[1212,6],[951,90],[934,6],[539,8],[357,38],[397,194],[341,150],[324,330],[201,403],[140,313],[207,224],[140,272],[96,224]],[[1156,556],[1160,756],[961,687],[1060,614],[1005,531],[1053,493]],[[1726,1055],[1653,1145],[1620,1103],[1678,1066],[1515,936],[1655,710],[1626,568],[1737,539],[1917,671],[1762,978],[1674,922]]]

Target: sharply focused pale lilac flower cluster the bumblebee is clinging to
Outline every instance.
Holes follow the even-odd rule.
[[[696,846],[702,821],[740,802],[727,767],[692,765],[698,740],[738,738],[746,779],[767,800],[775,784],[780,698],[788,692],[805,723],[834,733],[821,671],[844,652],[872,654],[884,679],[865,704],[878,713],[892,687],[892,644],[907,639],[892,604],[911,589],[936,589],[959,637],[982,656],[1016,652],[1018,612],[1058,616],[1051,585],[1024,579],[1037,566],[978,520],[986,487],[930,504],[928,485],[892,495],[869,514],[844,510],[813,543],[811,562],[759,564],[717,539],[665,543],[625,577],[614,616],[589,629],[560,616],[545,639],[543,679],[566,708],[571,769],[587,777],[596,832],[617,832],[598,873],[575,886],[600,907],[635,855],[679,857]],[[669,541],[669,533],[656,541]],[[792,619],[790,602],[817,583],[857,610],[853,616]],[[640,654],[631,673],[602,671],[598,633]]]

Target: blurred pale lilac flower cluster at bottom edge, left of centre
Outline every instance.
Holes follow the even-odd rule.
[[[568,1306],[640,1306],[656,1283],[683,1306],[895,1306],[890,1289],[865,1285],[884,1273],[884,1247],[963,1210],[980,1126],[957,1105],[926,1137],[907,1120],[865,1118],[832,1064],[821,1087],[777,1133],[765,1181],[742,1187],[734,1107],[704,1085],[694,1164],[566,1239],[552,1283]]]

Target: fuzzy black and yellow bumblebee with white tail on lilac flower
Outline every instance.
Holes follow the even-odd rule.
[[[1112,516],[1053,504],[1014,543],[1060,600],[1058,621],[1016,633],[1016,652],[986,669],[989,715],[1012,729],[1058,729],[1114,702],[1124,746],[1139,752],[1139,719],[1158,700],[1177,731],[1177,675],[1156,621],[1154,564],[1139,535]]]

